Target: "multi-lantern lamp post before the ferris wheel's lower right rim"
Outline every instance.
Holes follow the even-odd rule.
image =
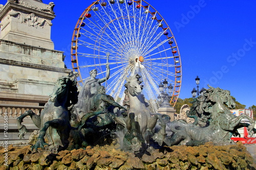
[[[170,106],[169,99],[170,99],[170,94],[173,91],[173,86],[169,85],[166,79],[164,79],[163,82],[160,82],[158,85],[160,94],[157,97],[158,102],[162,102],[162,106]]]

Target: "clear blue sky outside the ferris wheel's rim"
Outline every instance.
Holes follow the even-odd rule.
[[[52,1],[44,1],[48,4]],[[70,45],[78,17],[93,1],[55,1],[52,40],[70,63]],[[229,90],[237,101],[256,105],[256,2],[147,0],[172,30],[182,61],[180,98],[190,98],[199,76]]]

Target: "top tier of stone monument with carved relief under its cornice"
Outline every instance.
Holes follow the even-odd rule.
[[[0,9],[0,39],[53,50],[50,36],[55,15],[52,5],[33,0],[8,1]]]

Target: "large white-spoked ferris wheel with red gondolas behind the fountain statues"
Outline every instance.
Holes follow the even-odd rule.
[[[160,13],[143,0],[92,2],[76,23],[71,62],[80,75],[80,84],[90,77],[92,69],[97,69],[98,78],[105,77],[108,63],[106,93],[120,104],[125,78],[135,74],[141,76],[143,94],[154,112],[159,107],[160,82],[166,79],[173,87],[171,106],[180,93],[181,59],[176,40]]]

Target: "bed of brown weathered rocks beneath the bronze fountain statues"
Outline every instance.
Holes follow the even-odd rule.
[[[8,152],[9,169],[255,169],[243,145],[210,147],[174,146],[164,150],[148,149],[147,154],[122,152],[113,145],[86,150],[31,153],[29,147],[14,147]],[[228,148],[228,149],[226,149]],[[112,152],[113,151],[113,152]],[[90,153],[90,154],[88,154]],[[150,154],[148,154],[150,153]],[[93,154],[93,155],[92,155]],[[19,155],[19,156],[17,156]],[[3,162],[3,154],[0,154]],[[3,164],[3,163],[2,163]],[[226,167],[225,167],[226,166]],[[0,166],[0,170],[4,166]]]

